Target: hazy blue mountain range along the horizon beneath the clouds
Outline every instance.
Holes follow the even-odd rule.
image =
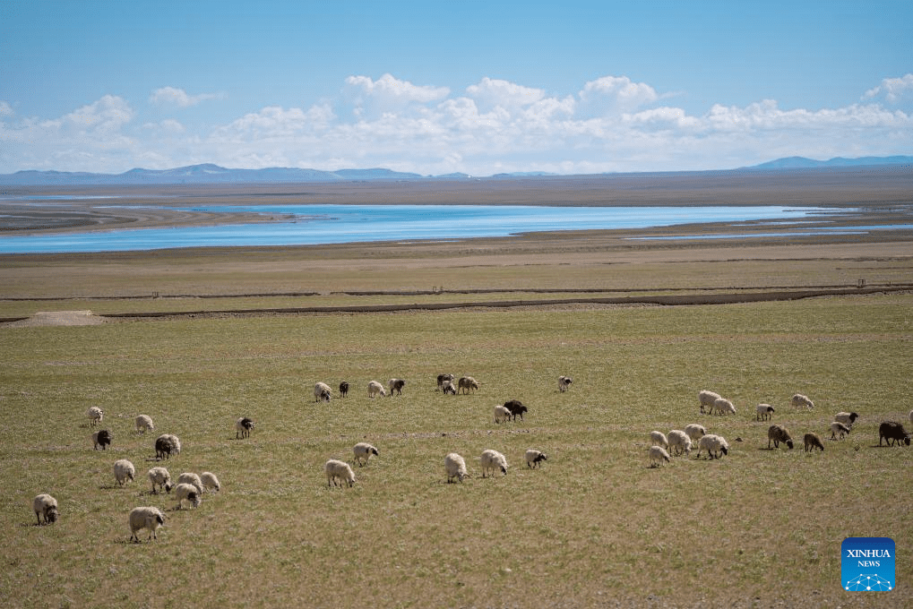
[[[913,164],[913,156],[866,156],[857,159],[834,158],[815,161],[802,156],[777,159],[741,171],[816,169],[834,167],[862,167],[866,165]],[[497,173],[487,179],[535,178],[553,176],[555,173],[517,172]],[[88,186],[121,184],[269,184],[296,182],[363,182],[368,180],[468,180],[475,179],[467,173],[421,175],[394,172],[390,169],[340,169],[334,172],[319,169],[268,167],[266,169],[226,169],[212,163],[188,165],[174,169],[131,169],[124,173],[85,173],[27,170],[0,174],[0,185],[8,186]]]

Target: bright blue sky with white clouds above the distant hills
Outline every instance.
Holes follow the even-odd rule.
[[[0,173],[913,154],[913,3],[0,0]]]

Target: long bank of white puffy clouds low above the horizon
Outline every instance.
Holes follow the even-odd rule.
[[[784,109],[758,100],[689,114],[670,103],[674,98],[625,76],[556,94],[488,77],[454,91],[391,74],[354,75],[337,99],[307,108],[265,106],[216,125],[162,116],[225,99],[173,87],[155,89],[135,106],[106,95],[55,119],[23,116],[14,111],[16,100],[0,100],[0,173],[119,173],[191,163],[601,173],[913,152],[913,74],[883,79],[842,108]],[[142,120],[146,113],[154,120]]]

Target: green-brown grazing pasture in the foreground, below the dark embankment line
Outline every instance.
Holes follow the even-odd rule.
[[[76,307],[72,307],[76,308]],[[89,307],[91,308],[91,307]],[[0,328],[0,577],[10,607],[901,606],[913,596],[913,447],[877,426],[913,409],[913,295],[747,305],[452,310]],[[436,375],[472,375],[442,395]],[[573,377],[570,391],[557,388]],[[366,385],[406,381],[371,400]],[[350,394],[336,392],[340,381]],[[334,388],[315,404],[314,383]],[[700,415],[698,391],[738,414]],[[794,393],[815,408],[789,405]],[[495,425],[519,399],[525,420]],[[797,439],[767,450],[770,423]],[[100,406],[114,440],[92,449]],[[834,413],[856,411],[831,441]],[[152,434],[133,431],[152,416]],[[252,417],[249,439],[234,421]],[[649,432],[700,423],[728,457],[649,467]],[[804,453],[802,436],[825,439]],[[154,462],[160,433],[183,451]],[[738,441],[740,438],[741,441]],[[352,463],[327,488],[323,463]],[[504,453],[506,477],[477,457]],[[530,470],[527,448],[548,461]],[[456,451],[473,477],[446,484]],[[112,464],[129,458],[125,488]],[[198,509],[150,494],[146,471],[214,472]],[[36,526],[31,499],[58,499]],[[127,514],[158,506],[157,541]],[[840,586],[845,537],[897,543],[897,589]]]

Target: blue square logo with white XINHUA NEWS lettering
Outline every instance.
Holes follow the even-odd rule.
[[[840,578],[850,592],[894,590],[894,540],[889,537],[847,537],[840,548]]]

